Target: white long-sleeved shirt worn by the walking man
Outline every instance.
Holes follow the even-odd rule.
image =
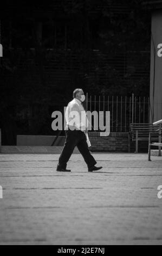
[[[68,103],[66,113],[66,130],[68,126],[73,126],[76,130],[85,131],[88,128],[88,118],[86,111],[83,108],[81,102],[74,99]]]

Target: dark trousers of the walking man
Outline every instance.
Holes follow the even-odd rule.
[[[83,159],[87,163],[88,168],[94,166],[96,164],[96,161],[94,160],[94,157],[90,154],[90,151],[88,149],[85,133],[79,130],[67,130],[65,132],[66,141],[62,153],[60,155],[59,164],[57,165],[57,168],[66,169],[67,162],[69,161],[70,156],[73,154],[74,148],[76,146],[82,154]]]

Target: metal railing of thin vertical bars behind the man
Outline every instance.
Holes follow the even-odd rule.
[[[111,132],[128,132],[131,123],[150,123],[150,97],[86,95],[86,111],[110,111]]]

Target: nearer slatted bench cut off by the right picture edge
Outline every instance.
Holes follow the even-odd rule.
[[[158,156],[161,156],[161,127],[162,127],[162,120],[159,120],[155,123],[153,123],[154,127],[158,127],[158,129],[155,132],[149,133],[149,142],[148,142],[148,161],[151,161],[151,147],[158,147],[159,148],[159,154]]]

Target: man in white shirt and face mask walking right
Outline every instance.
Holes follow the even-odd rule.
[[[86,119],[86,111],[81,104],[83,101],[85,101],[85,95],[83,93],[83,90],[75,89],[73,92],[73,98],[74,99],[69,102],[66,109],[66,119],[68,119],[65,129],[66,141],[59,158],[59,163],[57,164],[57,171],[71,172],[71,170],[66,169],[67,162],[69,161],[70,156],[73,154],[74,148],[76,146],[87,164],[88,172],[100,170],[102,167],[95,166],[96,161],[94,157],[90,154],[90,151],[88,149],[86,136],[88,132],[88,120]],[[74,113],[76,114],[75,122]]]

